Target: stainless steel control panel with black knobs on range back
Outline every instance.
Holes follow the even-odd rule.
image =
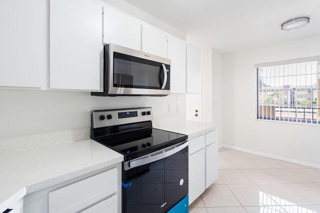
[[[131,118],[118,118],[119,112],[131,112],[136,111],[137,117]],[[142,115],[142,112],[150,112],[150,115]],[[100,120],[100,116],[104,115],[105,119]],[[111,119],[107,119],[107,115],[111,115]],[[93,110],[91,111],[91,120],[92,120],[92,128],[100,128],[100,127],[108,127],[108,126],[115,126],[121,124],[128,124],[128,123],[136,123],[142,121],[150,121],[153,119],[153,113],[151,107],[143,107],[143,108],[128,108],[128,109],[120,109],[120,110]]]

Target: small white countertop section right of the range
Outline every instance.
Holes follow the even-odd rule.
[[[188,135],[188,139],[192,139],[205,133],[211,132],[218,128],[218,126],[218,124],[182,120],[172,123],[163,123],[153,126],[153,128],[185,134]]]

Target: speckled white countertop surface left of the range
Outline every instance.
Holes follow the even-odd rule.
[[[29,193],[121,161],[121,154],[91,139],[2,154],[0,212]]]

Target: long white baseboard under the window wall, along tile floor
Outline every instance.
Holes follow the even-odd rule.
[[[260,156],[264,156],[264,157],[268,157],[268,158],[273,158],[273,159],[277,159],[277,160],[281,160],[281,161],[286,161],[286,162],[290,162],[290,163],[294,163],[294,164],[300,164],[300,165],[307,166],[307,167],[320,169],[320,165],[308,163],[308,162],[305,162],[305,161],[298,161],[298,160],[291,159],[291,158],[284,158],[284,157],[277,156],[277,155],[271,155],[271,154],[267,154],[267,153],[263,153],[263,152],[256,152],[256,151],[253,151],[253,150],[243,149],[243,148],[224,145],[224,144],[220,145],[219,149],[222,148],[222,147],[229,148],[229,149],[234,149],[234,150],[237,150],[237,151],[247,152],[247,153],[251,153],[251,154],[255,154],[255,155],[260,155]]]

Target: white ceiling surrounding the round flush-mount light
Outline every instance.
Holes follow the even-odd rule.
[[[320,33],[320,0],[125,0],[219,52]],[[282,31],[283,22],[307,16],[306,26]]]

